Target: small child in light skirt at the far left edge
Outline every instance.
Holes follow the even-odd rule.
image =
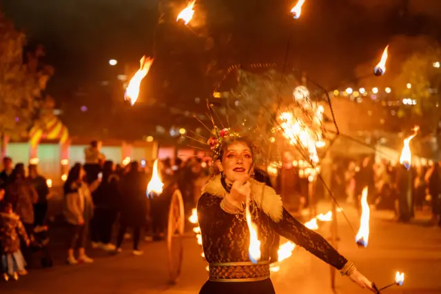
[[[10,277],[19,280],[19,275],[28,274],[25,270],[25,259],[20,251],[19,235],[29,246],[29,237],[20,217],[12,211],[12,204],[3,202],[0,211],[0,250],[1,272],[6,281]]]

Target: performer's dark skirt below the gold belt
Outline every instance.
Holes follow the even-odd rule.
[[[207,281],[199,294],[275,294],[271,279],[257,282],[213,282]]]

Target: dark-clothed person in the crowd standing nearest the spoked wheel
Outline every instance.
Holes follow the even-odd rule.
[[[121,252],[124,234],[127,227],[133,228],[133,254],[142,255],[139,250],[141,227],[147,224],[147,177],[139,172],[137,161],[130,163],[130,171],[119,183],[121,199],[120,227],[116,242],[116,252]]]

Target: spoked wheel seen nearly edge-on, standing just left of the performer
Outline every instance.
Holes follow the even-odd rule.
[[[181,275],[184,226],[184,202],[181,191],[176,189],[170,201],[167,225],[167,262],[171,284],[176,284]]]

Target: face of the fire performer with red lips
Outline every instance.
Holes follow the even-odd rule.
[[[222,161],[218,161],[218,168],[227,182],[233,183],[251,173],[252,163],[253,155],[247,144],[235,141],[225,149]]]

